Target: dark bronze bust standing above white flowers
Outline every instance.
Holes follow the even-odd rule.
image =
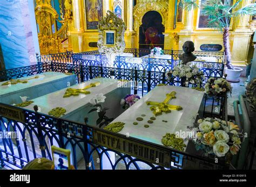
[[[197,56],[192,53],[194,51],[193,41],[186,41],[183,44],[182,48],[183,48],[184,53],[179,55],[179,59],[182,61],[183,64],[192,62],[197,59]]]

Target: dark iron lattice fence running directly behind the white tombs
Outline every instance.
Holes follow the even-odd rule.
[[[134,94],[139,94],[141,96],[156,87],[157,84],[164,83],[175,86],[181,85],[181,80],[178,77],[173,77],[171,80],[167,80],[165,77],[165,69],[160,69],[161,71],[154,71],[152,68],[150,70],[145,70],[141,67],[133,67],[129,69],[110,68],[103,66],[92,66],[93,62],[85,66],[83,65],[84,60],[77,60],[77,62],[77,64],[58,62],[40,63],[33,66],[8,69],[0,71],[0,80],[7,81],[10,79],[44,73],[45,71],[51,70],[60,73],[76,74],[77,83],[87,81],[98,76],[125,79],[131,81]],[[212,72],[211,74],[208,74],[207,77],[219,77],[219,75],[223,74],[222,69],[203,68],[202,70],[205,71],[205,74],[207,74],[207,71]],[[196,85],[190,84],[190,86],[195,87]]]

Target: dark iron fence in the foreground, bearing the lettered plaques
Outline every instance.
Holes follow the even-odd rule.
[[[156,145],[136,138],[112,133],[87,124],[54,118],[42,113],[24,110],[15,106],[0,104],[0,111],[18,111],[23,119],[0,115],[0,132],[14,132],[15,138],[3,137],[0,143],[0,162],[4,167],[6,163],[17,168],[23,168],[26,163],[38,157],[52,160],[51,146],[71,150],[71,161],[76,169],[181,169],[191,168],[193,164],[203,164],[208,169],[221,169],[228,167],[224,161],[215,163],[214,159],[199,155],[180,152],[176,149]],[[98,134],[114,138],[117,141],[130,142],[133,145],[145,145],[154,153],[163,152],[159,157],[159,164],[151,163],[148,159],[135,157],[134,152],[129,154],[113,150],[112,146],[101,146]],[[96,137],[97,136],[97,137]],[[169,160],[170,162],[164,162]],[[163,161],[163,163],[162,163]],[[106,163],[109,163],[106,166]]]

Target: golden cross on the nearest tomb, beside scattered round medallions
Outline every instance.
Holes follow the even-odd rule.
[[[175,95],[176,95],[176,92],[172,91],[171,93],[167,93],[166,94],[166,98],[165,98],[163,103],[148,101],[148,102],[146,102],[146,104],[147,105],[152,105],[150,107],[150,110],[153,111],[153,114],[155,116],[161,115],[162,112],[170,113],[171,110],[182,110],[181,106],[176,106],[176,105],[168,104],[171,99],[175,99],[176,98]]]

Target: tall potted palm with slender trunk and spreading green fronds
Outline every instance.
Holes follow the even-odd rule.
[[[223,45],[226,55],[226,66],[228,69],[233,69],[230,52],[231,18],[256,14],[256,3],[248,4],[237,10],[241,1],[242,0],[238,0],[232,5],[231,0],[206,0],[205,3],[201,4],[201,7],[203,7],[202,13],[209,17],[208,27],[214,28],[223,33]],[[199,8],[197,0],[182,0],[182,2],[183,8],[188,11]]]

